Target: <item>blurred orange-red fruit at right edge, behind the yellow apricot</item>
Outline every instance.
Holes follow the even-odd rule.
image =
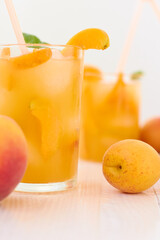
[[[160,152],[160,117],[149,120],[140,131],[140,139]]]

